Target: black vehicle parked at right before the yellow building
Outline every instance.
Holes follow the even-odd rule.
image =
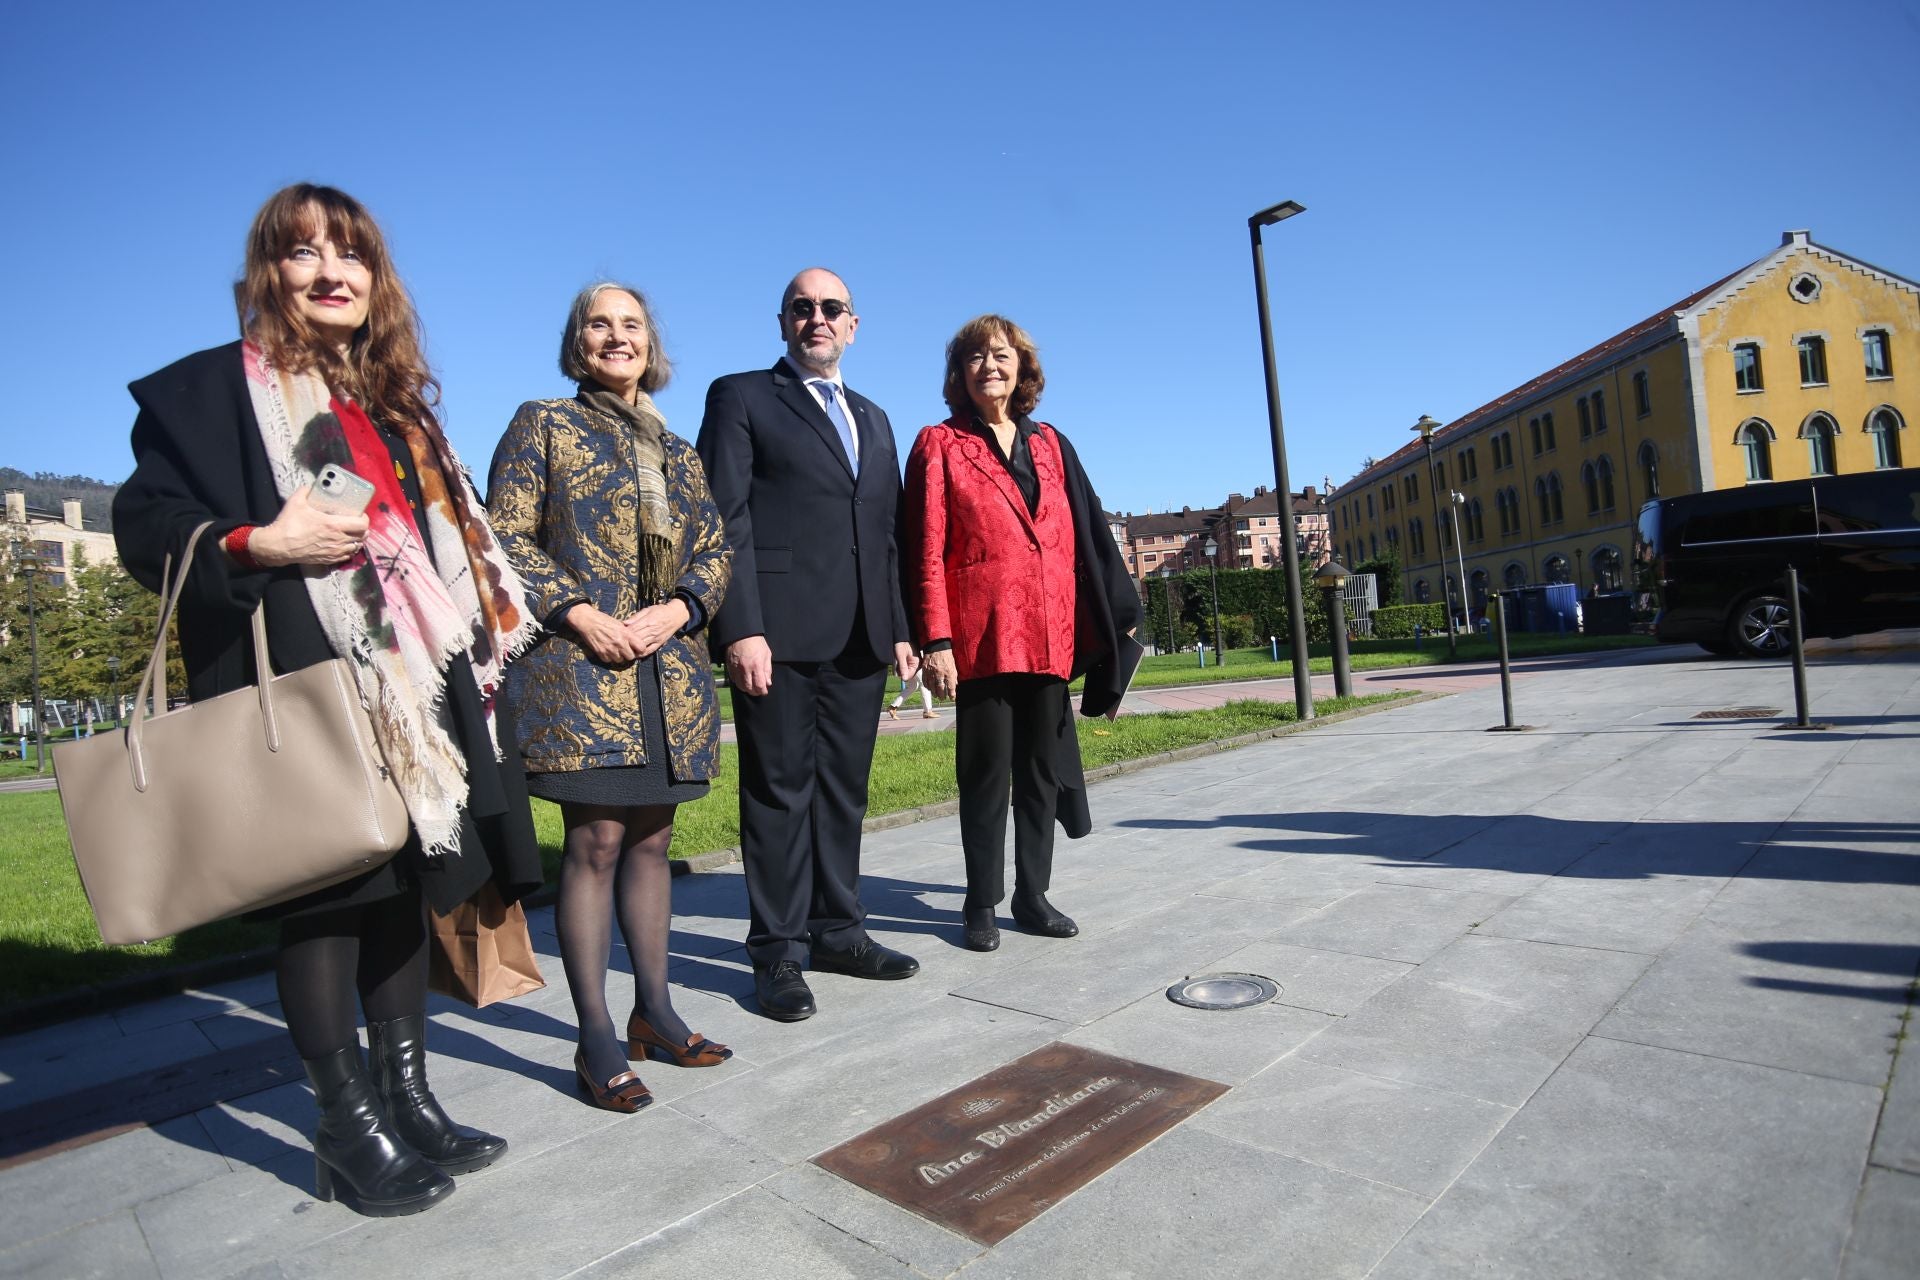
[[[1788,566],[1807,635],[1920,626],[1920,466],[1647,503],[1634,566],[1653,633],[1709,652],[1786,654]]]

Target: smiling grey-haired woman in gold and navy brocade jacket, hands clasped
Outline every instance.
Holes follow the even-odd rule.
[[[628,1061],[732,1055],[687,1029],[666,983],[674,808],[707,794],[720,764],[699,631],[726,597],[732,553],[699,455],[647,395],[672,367],[639,290],[605,282],[574,297],[561,372],[580,391],[520,405],[493,453],[488,514],[547,628],[509,668],[507,700],[528,791],[566,825],[555,929],[580,1088],[637,1111],[653,1096]],[[624,1042],[607,1007],[611,915],[634,960]]]

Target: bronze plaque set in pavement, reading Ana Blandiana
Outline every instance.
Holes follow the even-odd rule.
[[[1048,1044],[814,1163],[991,1245],[1225,1092],[1213,1080]]]

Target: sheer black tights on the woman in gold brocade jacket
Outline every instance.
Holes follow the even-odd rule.
[[[666,990],[666,942],[674,923],[674,877],[666,848],[674,839],[674,806],[563,804],[561,818],[566,823],[566,852],[553,929],[574,994],[588,1071],[605,1082],[626,1071],[626,1023],[616,1031],[607,1011],[612,915],[620,917],[620,935],[634,963],[634,1007],[668,1040],[685,1044],[691,1034]]]

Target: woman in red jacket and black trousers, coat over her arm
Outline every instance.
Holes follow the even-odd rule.
[[[920,432],[900,507],[900,585],[927,687],[956,699],[966,946],[1000,946],[1008,777],[1014,921],[1071,938],[1048,900],[1054,819],[1087,833],[1068,681],[1112,666],[1139,597],[1073,445],[1029,413],[1046,378],[1033,340],[983,315],[947,344],[952,416]],[[1100,679],[1089,674],[1089,689]],[[1083,714],[1100,714],[1091,693]],[[1117,702],[1117,691],[1100,700]]]

